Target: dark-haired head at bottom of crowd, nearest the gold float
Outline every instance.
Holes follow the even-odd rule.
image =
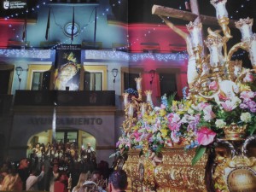
[[[108,192],[125,191],[127,186],[127,174],[124,170],[117,170],[111,173],[108,179]]]

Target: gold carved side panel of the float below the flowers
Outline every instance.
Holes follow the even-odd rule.
[[[128,191],[207,191],[204,182],[207,154],[198,164],[191,166],[194,154],[195,151],[185,152],[184,148],[164,148],[162,162],[155,166],[151,160],[140,157],[139,151],[129,152],[124,166],[129,180]],[[140,180],[142,171],[143,181]]]

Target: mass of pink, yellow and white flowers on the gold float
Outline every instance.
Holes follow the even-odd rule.
[[[256,130],[253,70],[244,69],[241,78],[231,85],[230,91],[223,91],[218,82],[208,82],[209,92],[215,93],[211,99],[192,93],[182,101],[175,101],[174,96],[168,99],[166,95],[162,96],[160,107],[152,106],[146,113],[137,113],[131,129],[119,137],[119,154],[139,148],[143,155],[152,158],[152,153],[159,154],[164,147],[183,145],[185,149],[196,148],[194,165],[215,139],[224,137],[224,131],[230,125],[240,132],[253,134]],[[233,135],[237,137],[235,139],[241,136]]]

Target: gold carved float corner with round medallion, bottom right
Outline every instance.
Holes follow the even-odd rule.
[[[247,142],[229,142],[235,153],[224,147],[216,148],[215,169],[212,174],[214,189],[221,192],[256,191],[256,158],[247,156]],[[241,150],[242,148],[242,150]]]

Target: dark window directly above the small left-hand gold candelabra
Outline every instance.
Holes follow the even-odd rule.
[[[135,79],[141,77],[142,73],[142,68],[121,67],[122,92],[124,92],[128,88],[137,90],[137,84]]]

